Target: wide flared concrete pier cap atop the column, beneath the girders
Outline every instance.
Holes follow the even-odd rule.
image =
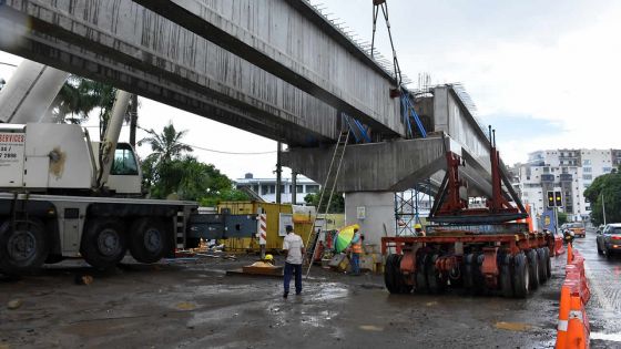
[[[489,173],[468,152],[449,137],[399,140],[384,143],[347,145],[338,192],[403,192],[432,179],[436,187],[446,171],[446,151],[461,154],[466,166],[460,175],[468,181],[472,196],[491,196]],[[284,166],[323,184],[329,168],[334,146],[327,148],[291,148],[283,153]]]

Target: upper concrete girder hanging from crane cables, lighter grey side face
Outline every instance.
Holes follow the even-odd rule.
[[[375,133],[405,134],[399,102],[388,95],[394,78],[306,1],[133,1],[357,117]]]

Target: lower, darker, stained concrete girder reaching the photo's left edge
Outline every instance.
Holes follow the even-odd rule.
[[[131,0],[9,0],[0,49],[298,146],[337,111]]]

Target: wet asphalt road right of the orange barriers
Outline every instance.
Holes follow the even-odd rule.
[[[586,259],[591,300],[587,315],[591,325],[591,348],[621,348],[621,256],[599,256],[594,229],[576,239],[573,246]]]

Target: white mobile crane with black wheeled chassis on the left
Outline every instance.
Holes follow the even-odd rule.
[[[253,215],[202,215],[194,202],[143,198],[135,152],[118,142],[130,94],[118,91],[105,135],[92,142],[80,125],[39,122],[67,73],[22,64],[0,91],[0,120],[11,122],[0,123],[1,273],[67,257],[109,268],[128,249],[138,261],[155,263],[201,238],[256,232]]]

